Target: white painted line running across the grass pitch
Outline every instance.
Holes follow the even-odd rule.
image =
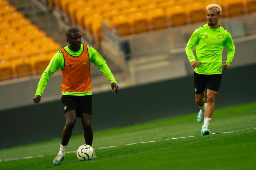
[[[245,130],[240,130],[237,132],[241,132],[241,131],[249,131],[249,130],[255,130],[256,128],[253,129],[245,129]],[[231,131],[231,132],[220,132],[220,133],[234,133],[235,131]],[[211,133],[211,134],[220,134],[220,133]],[[180,138],[170,138],[170,139],[163,139],[163,140],[159,140],[159,141],[166,141],[166,140],[171,140],[171,139],[182,139],[182,138],[193,138],[195,136],[185,136],[185,137],[180,137]],[[140,142],[140,143],[128,143],[125,145],[136,145],[136,144],[143,144],[143,143],[150,143],[150,142],[156,142],[156,141],[146,141],[146,142]],[[97,149],[105,149],[105,148],[114,148],[117,146],[106,146],[106,147],[100,147]],[[67,151],[66,153],[76,153],[76,151]],[[21,160],[21,159],[31,159],[31,158],[39,158],[39,157],[43,157],[44,155],[37,155],[37,156],[27,156],[27,157],[23,157],[23,158],[9,158],[9,159],[4,159],[3,161],[12,161],[12,160]],[[2,160],[0,159],[0,162],[2,162]]]

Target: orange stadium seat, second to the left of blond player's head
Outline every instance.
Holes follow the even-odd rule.
[[[185,5],[174,5],[166,8],[168,21],[172,27],[187,24],[187,15],[184,9]]]

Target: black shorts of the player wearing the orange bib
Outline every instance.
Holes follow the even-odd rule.
[[[82,113],[92,114],[92,95],[62,95],[61,102],[64,113],[70,110],[76,110],[77,117],[81,117]]]

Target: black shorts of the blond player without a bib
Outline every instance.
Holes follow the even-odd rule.
[[[220,82],[221,74],[203,75],[194,72],[195,94],[204,92],[206,88],[218,92]]]

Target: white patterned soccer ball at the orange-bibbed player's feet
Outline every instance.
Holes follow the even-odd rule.
[[[82,145],[76,151],[76,156],[80,161],[91,160],[94,155],[94,150],[90,145]]]

